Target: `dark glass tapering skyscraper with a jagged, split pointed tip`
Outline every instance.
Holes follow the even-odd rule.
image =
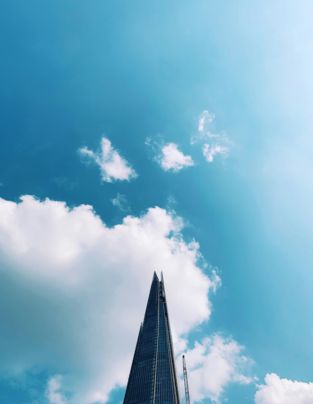
[[[161,281],[153,275],[124,404],[181,404],[162,272]]]

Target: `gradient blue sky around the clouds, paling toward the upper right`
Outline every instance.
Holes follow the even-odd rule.
[[[125,216],[118,193],[136,217],[174,198],[184,239],[222,281],[189,342],[232,336],[260,384],[313,381],[312,13],[309,1],[2,1],[1,198],[89,204],[108,226]],[[227,158],[190,144],[204,110],[232,142]],[[101,182],[82,163],[78,149],[103,136],[136,179]],[[165,172],[147,137],[195,166]],[[20,379],[2,368],[0,401],[44,403],[48,367]],[[221,400],[254,402],[256,389],[230,383]]]

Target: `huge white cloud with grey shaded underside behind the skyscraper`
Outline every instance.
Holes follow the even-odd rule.
[[[88,205],[0,199],[0,376],[45,369],[51,403],[105,402],[126,385],[161,269],[176,353],[186,349],[185,334],[210,317],[220,279],[199,266],[199,245],[184,241],[182,225],[158,207],[109,228]]]

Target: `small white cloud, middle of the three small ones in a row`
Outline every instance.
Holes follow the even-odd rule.
[[[156,156],[155,160],[164,171],[172,170],[175,173],[182,168],[194,165],[191,156],[185,156],[179,151],[178,145],[175,143],[168,143],[166,146],[162,147],[161,154]]]

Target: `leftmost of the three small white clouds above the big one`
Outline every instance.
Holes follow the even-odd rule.
[[[78,152],[87,159],[87,162],[92,161],[99,165],[101,178],[105,182],[113,182],[117,179],[130,181],[138,176],[128,162],[113,149],[106,137],[101,139],[101,150],[94,152],[87,147],[82,147],[78,149]]]

